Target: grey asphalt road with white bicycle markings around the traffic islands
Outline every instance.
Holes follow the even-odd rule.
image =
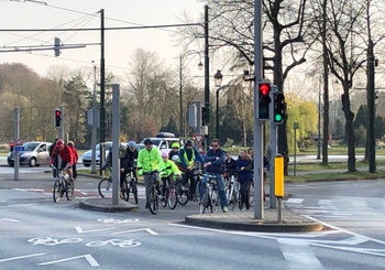
[[[294,197],[286,206],[330,228],[308,234],[187,226],[182,222],[197,213],[196,203],[153,216],[143,208],[143,188],[136,213],[89,212],[77,207],[79,198],[53,203],[47,180],[21,182],[32,187],[0,180],[0,269],[361,270],[385,264],[384,181],[287,185]],[[77,193],[97,196],[96,183],[79,179]]]

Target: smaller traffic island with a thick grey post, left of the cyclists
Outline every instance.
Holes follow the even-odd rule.
[[[80,199],[79,208],[87,210],[98,210],[98,212],[138,212],[139,207],[135,204],[131,204],[129,202],[120,199],[118,205],[112,204],[112,198],[85,198]]]

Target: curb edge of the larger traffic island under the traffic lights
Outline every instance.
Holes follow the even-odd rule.
[[[217,229],[244,230],[244,231],[264,231],[264,233],[309,233],[320,231],[323,229],[322,224],[319,223],[300,223],[300,224],[285,224],[285,223],[266,223],[256,219],[255,223],[233,223],[226,220],[212,220],[197,218],[196,216],[185,217],[185,222],[193,226],[208,227]]]

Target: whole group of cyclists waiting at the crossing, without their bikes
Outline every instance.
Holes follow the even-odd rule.
[[[107,154],[103,170],[107,166],[111,166],[112,149]],[[59,170],[67,169],[69,179],[73,181],[76,179],[76,162],[77,151],[73,142],[64,143],[63,139],[57,139],[50,149],[51,164]],[[57,164],[57,156],[61,156],[62,163]],[[200,179],[200,183],[196,183],[196,163],[200,164],[205,174]],[[70,170],[75,169],[75,171]],[[150,206],[150,192],[155,181],[157,193],[161,194],[161,199],[165,196],[166,181],[168,184],[175,180],[175,177],[182,177],[184,183],[189,183],[188,196],[190,199],[195,198],[197,184],[199,184],[199,202],[201,203],[207,175],[213,175],[217,179],[218,195],[220,198],[220,205],[223,212],[228,212],[228,199],[224,191],[223,175],[235,174],[238,182],[240,183],[240,209],[249,209],[249,190],[253,182],[253,158],[252,149],[249,151],[241,150],[237,160],[232,159],[229,152],[224,152],[218,139],[211,141],[210,148],[206,155],[202,156],[194,147],[191,140],[187,140],[182,147],[178,142],[172,144],[169,152],[161,151],[153,145],[150,138],[144,140],[144,148],[140,151],[136,149],[136,143],[130,141],[127,147],[120,145],[120,180],[121,183],[125,179],[125,175],[133,172],[134,177],[138,180],[138,175],[143,176],[145,186],[146,204],[145,208]],[[54,177],[55,177],[54,170]],[[155,177],[153,177],[155,175]],[[160,190],[161,181],[163,182],[163,190]]]

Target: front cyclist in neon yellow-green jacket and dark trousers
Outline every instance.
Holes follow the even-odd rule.
[[[153,141],[147,138],[144,140],[144,148],[139,151],[138,154],[138,169],[139,175],[143,175],[144,186],[145,186],[145,208],[150,206],[150,192],[153,184],[153,174],[155,174],[155,183],[158,194],[160,191],[160,173],[158,166],[162,162],[161,152],[157,148],[154,148]]]

